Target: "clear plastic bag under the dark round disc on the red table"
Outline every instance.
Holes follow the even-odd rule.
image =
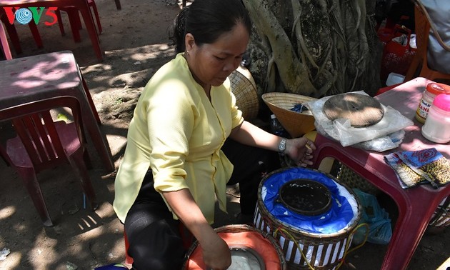
[[[355,91],[355,94],[364,94],[368,96],[364,91]],[[314,116],[314,121],[317,131],[331,139],[339,141],[342,146],[350,146],[359,144],[363,141],[371,141],[373,139],[388,136],[396,131],[400,131],[406,126],[412,126],[414,123],[411,119],[407,119],[399,111],[390,106],[384,106],[384,116],[381,121],[372,125],[361,128],[351,126],[349,119],[336,119],[331,121],[324,114],[324,104],[331,98],[331,96],[325,96],[321,99],[309,101],[306,106],[311,110]],[[399,134],[395,134],[397,136]],[[403,138],[401,138],[403,139]],[[371,142],[369,143],[371,144]],[[382,151],[391,149],[390,147],[382,147]]]

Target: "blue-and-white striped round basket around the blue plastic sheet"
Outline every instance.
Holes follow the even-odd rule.
[[[261,184],[259,184],[258,201],[256,203],[254,215],[254,224],[256,228],[261,231],[270,232],[274,235],[274,238],[279,241],[288,269],[306,270],[311,269],[311,267],[320,270],[337,269],[341,259],[343,259],[344,255],[349,250],[349,246],[353,240],[354,231],[361,219],[362,209],[358,197],[353,190],[349,189],[344,184],[341,184],[334,176],[321,172],[330,179],[333,179],[336,184],[343,186],[349,192],[350,196],[357,201],[358,211],[356,216],[354,216],[354,219],[349,226],[331,234],[310,233],[309,231],[298,229],[291,224],[280,221],[271,214],[264,205],[261,196],[266,179],[269,179],[269,177],[274,174],[282,173],[284,170],[286,169],[272,171],[270,174],[264,176]],[[315,169],[309,170],[317,171]],[[278,233],[276,233],[276,231],[278,231]],[[304,254],[304,256],[301,256],[301,254]],[[310,266],[307,264],[310,264]]]

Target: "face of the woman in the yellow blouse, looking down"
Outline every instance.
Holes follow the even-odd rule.
[[[241,63],[249,32],[242,24],[219,36],[212,44],[197,46],[194,36],[186,34],[185,56],[194,79],[204,88],[219,86]]]

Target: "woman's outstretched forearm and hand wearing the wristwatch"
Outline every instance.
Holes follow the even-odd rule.
[[[230,134],[230,138],[239,141],[241,144],[249,146],[257,146],[272,151],[278,151],[278,146],[281,137],[270,134],[258,126],[255,126],[247,121],[242,122],[241,125],[236,126]],[[312,151],[316,146],[312,141],[304,137],[289,139],[286,141],[285,154],[299,166],[312,165]]]

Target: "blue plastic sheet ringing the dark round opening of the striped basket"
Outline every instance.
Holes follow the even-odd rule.
[[[306,216],[297,214],[286,208],[279,202],[279,189],[287,181],[294,179],[310,179],[318,181],[328,187],[331,193],[331,209],[318,216]],[[344,186],[341,186],[341,190]],[[289,224],[289,226],[316,234],[332,234],[346,228],[354,218],[354,209],[347,197],[351,194],[339,191],[336,181],[322,174],[319,171],[304,168],[290,168],[279,173],[271,174],[264,181],[261,188],[261,195],[267,211],[279,221]],[[354,199],[354,196],[351,196]],[[356,199],[354,199],[356,204]]]

